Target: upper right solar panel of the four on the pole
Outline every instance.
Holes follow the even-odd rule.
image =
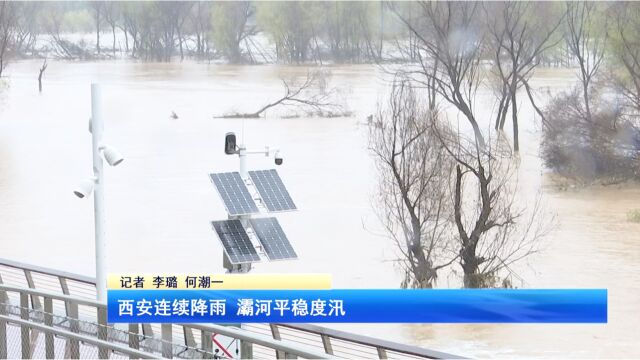
[[[277,171],[274,169],[249,171],[249,176],[260,193],[267,210],[285,211],[296,209],[296,205],[293,203],[291,196],[289,196],[289,192],[284,187]]]

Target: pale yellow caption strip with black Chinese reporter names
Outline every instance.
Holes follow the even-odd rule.
[[[112,290],[323,290],[330,274],[109,274]]]

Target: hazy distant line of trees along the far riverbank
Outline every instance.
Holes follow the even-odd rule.
[[[406,60],[400,49],[409,44],[412,53],[416,39],[397,14],[412,20],[421,6],[395,3],[392,10],[382,1],[0,1],[0,59],[192,57],[235,64]],[[536,9],[528,16],[544,19],[560,13],[562,4]],[[78,36],[90,33],[90,38]],[[568,53],[560,44],[545,52],[542,61],[567,65]],[[415,53],[409,57],[416,60]]]

